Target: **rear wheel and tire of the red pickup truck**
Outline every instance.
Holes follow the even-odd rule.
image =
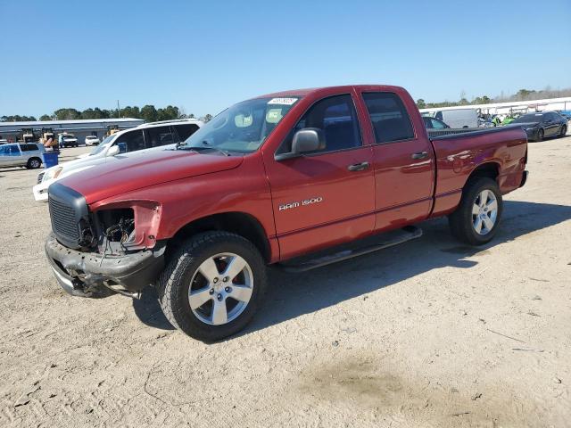
[[[500,223],[503,201],[495,180],[476,177],[468,181],[458,208],[448,216],[452,235],[470,245],[489,243]]]

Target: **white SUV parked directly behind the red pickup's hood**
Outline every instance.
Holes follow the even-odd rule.
[[[79,159],[48,168],[37,176],[34,199],[47,201],[47,188],[54,182],[84,169],[110,161],[140,156],[146,152],[174,148],[203,126],[201,120],[179,119],[144,123],[137,128],[125,129],[106,137],[101,144]]]

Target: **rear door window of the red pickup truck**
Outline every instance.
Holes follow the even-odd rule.
[[[401,98],[391,92],[363,94],[377,143],[410,140],[414,130]]]

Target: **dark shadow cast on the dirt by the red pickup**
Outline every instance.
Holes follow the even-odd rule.
[[[571,206],[505,201],[503,215],[498,234],[491,243],[481,247],[459,243],[451,236],[447,220],[437,218],[418,225],[424,231],[418,240],[366,256],[302,274],[270,268],[266,301],[252,324],[238,335],[325,309],[432,269],[474,268],[478,263],[467,258],[485,254],[487,249],[499,243],[514,241],[566,221],[571,218]],[[162,315],[153,289],[145,290],[141,300],[133,300],[133,306],[137,317],[146,325],[173,328]]]

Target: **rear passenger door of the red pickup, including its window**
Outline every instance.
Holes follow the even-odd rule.
[[[361,96],[373,139],[375,230],[426,218],[434,192],[434,152],[426,130],[420,129],[423,122],[418,119],[413,126],[407,106],[396,93],[362,92]],[[414,108],[412,99],[408,101],[408,107]]]

